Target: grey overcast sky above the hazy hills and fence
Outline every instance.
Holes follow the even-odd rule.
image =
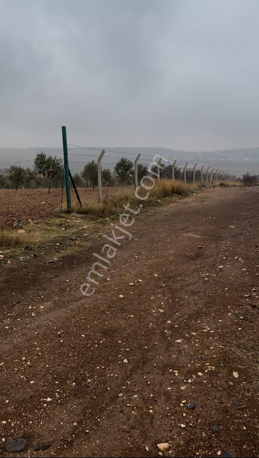
[[[259,146],[258,0],[0,0],[0,147]]]

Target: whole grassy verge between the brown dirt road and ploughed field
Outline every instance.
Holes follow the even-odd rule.
[[[148,182],[147,185],[151,183]],[[238,186],[240,183],[220,182],[215,186],[227,185]],[[209,185],[210,186],[210,185]],[[190,193],[199,191],[200,183],[184,184],[178,180],[161,180],[156,182],[151,190],[146,190],[142,186],[139,189],[139,195],[145,197],[147,192],[149,196],[146,200],[139,201],[135,196],[134,188],[116,188],[111,189],[107,196],[104,197],[103,203],[94,201],[82,202],[82,207],[78,202],[72,202],[72,211],[85,214],[86,218],[79,218],[80,215],[75,213],[64,215],[64,213],[56,213],[53,216],[45,218],[43,221],[34,221],[32,224],[25,224],[22,229],[25,234],[17,231],[17,228],[3,229],[0,231],[0,251],[5,252],[4,262],[17,254],[32,256],[32,249],[35,254],[49,257],[54,253],[58,256],[59,253],[64,253],[70,249],[79,249],[84,243],[89,240],[91,234],[94,234],[96,227],[107,224],[105,217],[116,218],[115,215],[123,212],[123,205],[129,203],[130,206],[137,206],[140,202],[143,206],[148,207],[160,203],[160,199],[169,196],[187,196]],[[171,202],[171,201],[170,201]],[[87,218],[88,217],[88,218]],[[94,225],[93,225],[94,224]],[[87,232],[87,234],[86,234]],[[72,237],[73,240],[70,239]],[[25,246],[29,245],[29,250],[25,250]],[[34,254],[34,256],[35,256]],[[30,256],[28,256],[30,255]]]

